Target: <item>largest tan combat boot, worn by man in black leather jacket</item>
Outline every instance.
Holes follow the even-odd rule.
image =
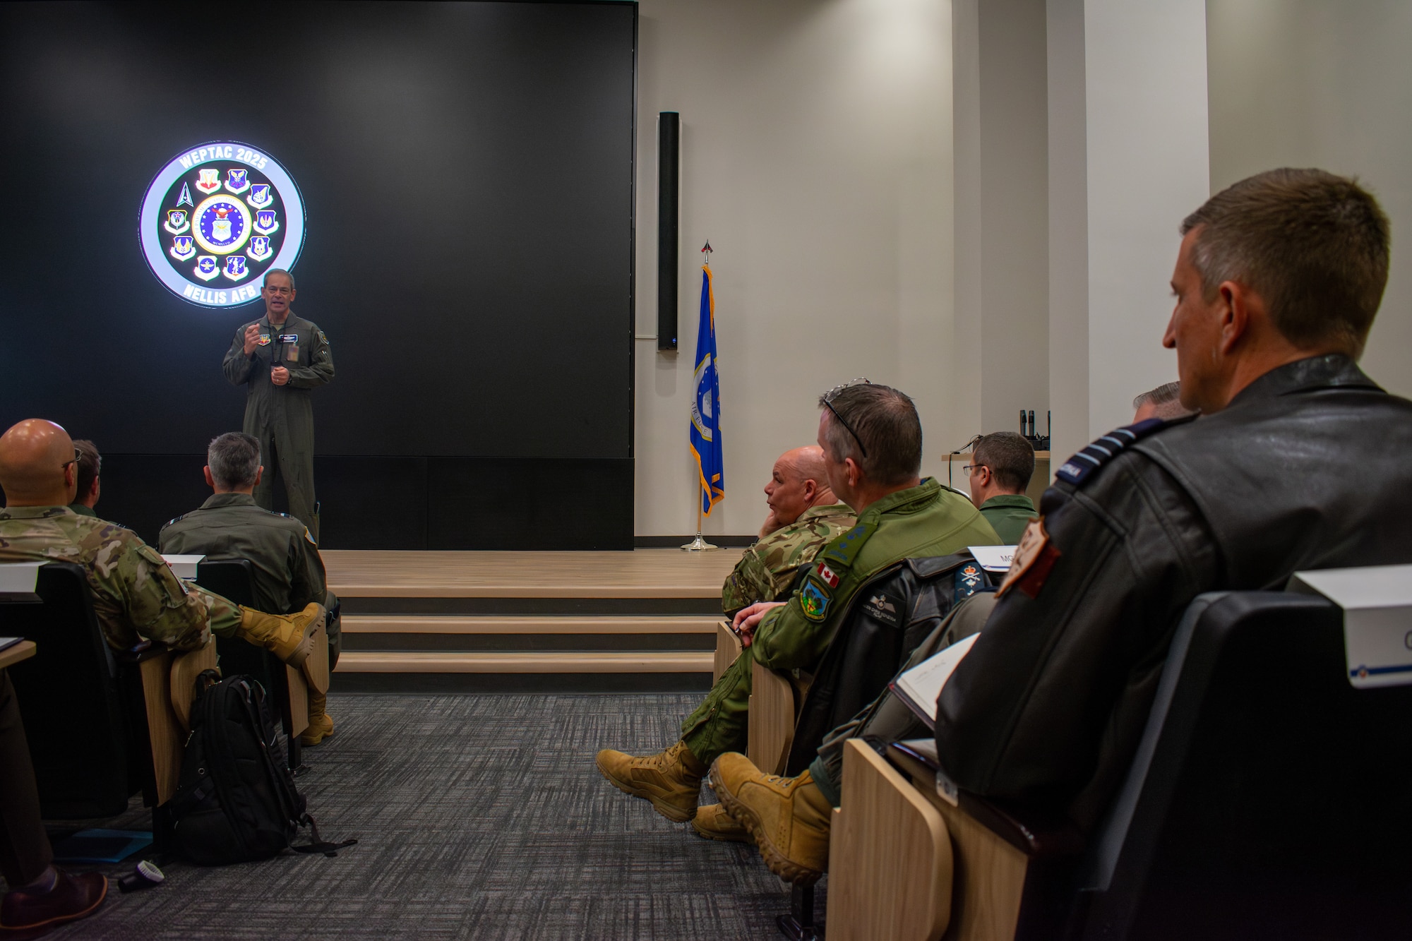
[[[755,838],[770,872],[812,886],[829,868],[833,807],[809,771],[799,777],[764,774],[744,754],[722,754],[710,766],[716,797]]]

